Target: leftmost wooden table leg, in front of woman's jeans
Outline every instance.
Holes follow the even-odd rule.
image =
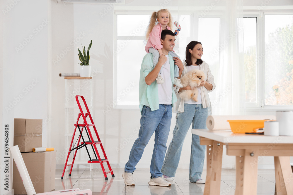
[[[220,194],[223,145],[223,143],[214,141],[211,150],[207,149],[207,178],[204,195]]]

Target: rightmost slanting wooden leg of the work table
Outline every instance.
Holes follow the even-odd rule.
[[[276,194],[293,194],[293,174],[289,156],[275,156]]]

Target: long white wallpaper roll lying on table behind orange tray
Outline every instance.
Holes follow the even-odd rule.
[[[210,115],[207,117],[207,128],[209,130],[231,130],[227,120],[276,120],[274,115]]]

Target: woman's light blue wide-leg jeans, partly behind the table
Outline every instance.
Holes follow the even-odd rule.
[[[184,112],[177,113],[176,126],[173,131],[173,139],[168,147],[162,173],[169,177],[175,177],[180,160],[183,142],[192,122],[193,129],[206,129],[207,110],[202,104],[184,104]],[[200,145],[198,135],[192,134],[191,154],[189,163],[189,181],[196,182],[201,179],[203,164],[205,161],[206,146]]]

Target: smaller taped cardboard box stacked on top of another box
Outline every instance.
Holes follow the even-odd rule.
[[[14,146],[20,152],[32,152],[33,148],[42,147],[42,119],[14,119]]]

